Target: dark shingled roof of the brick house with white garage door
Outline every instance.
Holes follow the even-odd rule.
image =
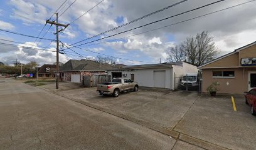
[[[67,63],[60,66],[60,71],[107,71],[112,68],[110,64],[98,63],[92,60],[74,60],[70,59]]]

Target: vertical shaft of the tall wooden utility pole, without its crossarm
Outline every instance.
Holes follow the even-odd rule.
[[[59,42],[58,42],[58,13],[56,13],[56,89],[58,89],[59,79]]]

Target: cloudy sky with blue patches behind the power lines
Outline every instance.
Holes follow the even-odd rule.
[[[2,0],[0,1],[0,29],[28,34],[30,36],[38,36],[41,29],[45,26],[46,19],[49,19],[57,8],[65,2],[58,11],[59,14],[62,14],[73,1],[75,0],[67,0],[66,2],[65,0]],[[73,5],[59,17],[59,22],[63,24],[72,22],[100,1],[101,0],[75,1]],[[87,37],[112,29],[113,27],[120,26],[125,22],[132,21],[138,17],[157,11],[166,6],[170,6],[171,4],[175,4],[179,1],[105,0],[87,14],[80,17],[80,19],[77,19],[77,21],[70,24],[70,26],[60,34],[60,41],[66,44],[73,44]],[[215,1],[185,1],[173,8],[166,9],[127,26],[120,27],[119,29],[108,32],[100,37],[106,37],[118,32],[126,31],[128,29],[157,21],[164,17],[173,16],[180,12],[198,8]],[[160,58],[162,62],[164,62],[166,61],[167,56],[166,50],[169,49],[169,47],[175,46],[176,44],[183,42],[186,37],[195,36],[196,33],[201,31],[208,31],[210,36],[214,37],[214,42],[221,51],[220,55],[230,53],[238,47],[242,47],[256,41],[255,1],[173,26],[151,32],[146,31],[248,1],[249,0],[226,0],[203,9],[176,16],[171,19],[166,19],[165,21],[157,22],[133,31],[125,32],[124,34],[119,34],[117,36],[79,46],[82,49],[73,47],[72,49],[76,53],[67,49],[65,50],[65,53],[67,54],[60,54],[60,61],[62,63],[66,63],[68,59],[93,59],[99,55],[96,53],[102,53],[116,57],[115,59],[122,64],[159,63]],[[55,15],[51,17],[51,20],[55,20]],[[46,33],[49,27],[49,24],[45,26],[40,37]],[[45,38],[55,39],[56,36],[54,32],[56,32],[56,27],[51,26],[49,32],[46,33]],[[146,33],[132,36],[141,32]],[[94,41],[100,37],[95,37],[93,39],[80,42],[79,44]],[[1,39],[21,43],[3,41]],[[56,42],[54,41],[47,41],[44,39],[40,40],[0,31],[0,42],[0,61],[3,63],[11,64],[16,59],[21,61],[21,63],[36,61],[39,64],[51,64],[56,61],[55,52],[51,52],[55,51]],[[4,46],[3,43],[33,47],[35,49]],[[62,47],[62,44],[60,44],[60,48],[65,47]],[[36,49],[45,49],[46,51]],[[90,51],[96,53],[92,53]],[[84,58],[78,56],[77,53],[81,54]]]

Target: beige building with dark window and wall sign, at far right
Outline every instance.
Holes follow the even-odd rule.
[[[203,72],[202,92],[217,81],[218,93],[242,94],[256,87],[256,42],[240,47],[199,66]]]

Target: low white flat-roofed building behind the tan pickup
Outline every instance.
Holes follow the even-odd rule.
[[[139,86],[175,89],[179,79],[186,73],[198,73],[196,66],[188,63],[163,63],[123,66],[110,69],[107,73],[112,78],[129,78]]]

